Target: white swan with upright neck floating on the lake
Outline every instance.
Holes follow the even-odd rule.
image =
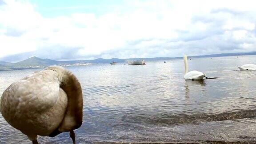
[[[188,72],[188,57],[184,55],[184,64],[185,64],[185,75],[184,79],[188,80],[202,80],[204,79],[205,74],[203,72],[198,71],[190,71]]]

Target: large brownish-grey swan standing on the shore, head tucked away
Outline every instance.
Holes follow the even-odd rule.
[[[54,66],[35,72],[13,84],[3,93],[0,112],[14,128],[38,144],[37,135],[54,137],[70,132],[76,143],[74,129],[83,119],[82,89],[76,76]]]

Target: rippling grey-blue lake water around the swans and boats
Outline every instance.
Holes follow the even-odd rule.
[[[194,58],[188,69],[206,72],[202,81],[184,80],[183,60],[146,65],[94,64],[68,67],[80,80],[84,122],[78,143],[256,142],[256,56]],[[40,69],[0,72],[0,96],[14,81]],[[72,143],[69,133],[39,143]],[[0,143],[31,143],[0,115]]]

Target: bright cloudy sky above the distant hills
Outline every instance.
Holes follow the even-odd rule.
[[[0,60],[256,51],[255,0],[0,0]]]

